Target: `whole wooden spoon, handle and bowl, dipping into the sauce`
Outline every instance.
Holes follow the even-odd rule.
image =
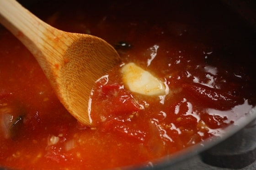
[[[96,36],[53,28],[16,0],[0,0],[0,23],[34,55],[69,113],[90,126],[91,89],[119,62],[115,49]]]

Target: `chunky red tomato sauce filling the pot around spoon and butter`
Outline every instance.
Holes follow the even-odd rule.
[[[61,30],[105,39],[122,63],[91,87],[92,126],[85,127],[59,102],[32,54],[0,26],[3,167],[151,166],[225,134],[256,105],[254,32],[216,1],[44,0],[30,10]],[[169,93],[130,91],[120,73],[129,62],[158,77]]]

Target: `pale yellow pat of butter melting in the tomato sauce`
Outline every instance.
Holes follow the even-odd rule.
[[[144,95],[165,95],[165,84],[130,62],[122,67],[123,82],[130,91]]]

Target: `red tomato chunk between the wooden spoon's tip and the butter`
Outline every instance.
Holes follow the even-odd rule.
[[[98,86],[92,96],[92,101],[97,102],[101,107],[92,108],[91,118],[93,125],[100,124],[113,117],[126,117],[143,109],[122,85],[105,84]]]

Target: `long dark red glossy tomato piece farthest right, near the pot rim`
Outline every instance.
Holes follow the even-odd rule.
[[[209,88],[199,83],[182,84],[182,88],[196,102],[208,108],[228,110],[244,102],[243,98],[231,95],[221,89]]]

